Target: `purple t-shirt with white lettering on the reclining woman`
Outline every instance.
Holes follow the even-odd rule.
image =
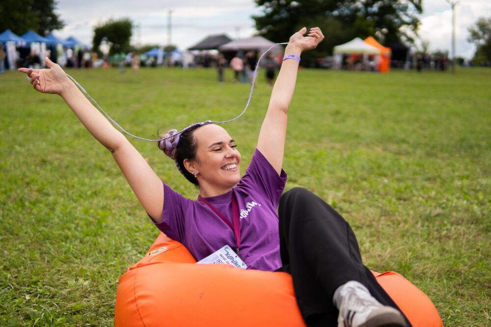
[[[246,174],[232,191],[205,198],[232,222],[232,193],[241,218],[241,259],[248,269],[274,271],[281,267],[278,201],[285,188],[286,173],[274,170],[256,149]],[[181,242],[201,260],[225,245],[236,247],[232,229],[201,201],[193,201],[164,183],[162,223],[155,224],[168,237]]]

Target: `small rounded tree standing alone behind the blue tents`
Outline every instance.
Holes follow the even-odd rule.
[[[128,18],[110,19],[106,23],[97,25],[94,28],[94,38],[92,39],[93,49],[99,49],[102,40],[105,39],[111,44],[109,55],[130,50],[132,27],[133,23]]]

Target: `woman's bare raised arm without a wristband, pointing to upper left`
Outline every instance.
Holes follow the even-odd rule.
[[[83,126],[112,154],[138,201],[157,222],[162,221],[164,188],[135,147],[116,130],[68,78],[61,67],[45,58],[48,69],[20,68],[30,77],[34,89],[41,93],[60,95]]]

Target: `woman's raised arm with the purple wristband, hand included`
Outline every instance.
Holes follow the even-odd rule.
[[[318,27],[310,29],[308,36],[304,37],[307,29],[303,27],[290,37],[285,49],[285,55],[294,54],[300,56],[302,51],[315,49],[324,39],[322,31]],[[270,104],[264,118],[257,149],[266,157],[273,168],[279,174],[283,165],[283,153],[285,151],[285,138],[287,126],[287,112],[292,101],[299,62],[294,59],[283,61],[278,78],[273,86]]]

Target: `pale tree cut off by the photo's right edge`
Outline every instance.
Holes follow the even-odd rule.
[[[491,65],[491,17],[480,17],[469,27],[469,33],[467,41],[476,45],[473,61],[478,65]]]

